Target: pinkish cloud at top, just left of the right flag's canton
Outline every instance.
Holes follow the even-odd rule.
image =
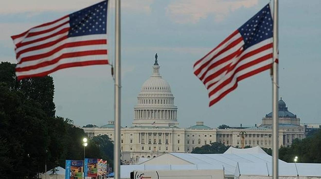
[[[214,15],[215,21],[222,21],[230,12],[249,8],[258,0],[176,0],[166,7],[166,15],[176,23],[197,23]]]

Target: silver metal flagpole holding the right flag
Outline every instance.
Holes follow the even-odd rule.
[[[278,0],[274,0],[273,8],[273,179],[279,178],[279,77],[278,77]]]

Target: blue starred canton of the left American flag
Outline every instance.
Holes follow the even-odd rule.
[[[108,0],[69,14],[68,37],[107,33]]]

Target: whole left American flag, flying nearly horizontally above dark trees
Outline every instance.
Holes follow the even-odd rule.
[[[108,64],[108,1],[12,36],[18,79],[41,77],[59,69]]]

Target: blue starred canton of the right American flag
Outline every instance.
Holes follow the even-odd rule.
[[[269,4],[243,24],[238,30],[245,42],[243,45],[244,50],[265,39],[273,37],[273,20]]]

